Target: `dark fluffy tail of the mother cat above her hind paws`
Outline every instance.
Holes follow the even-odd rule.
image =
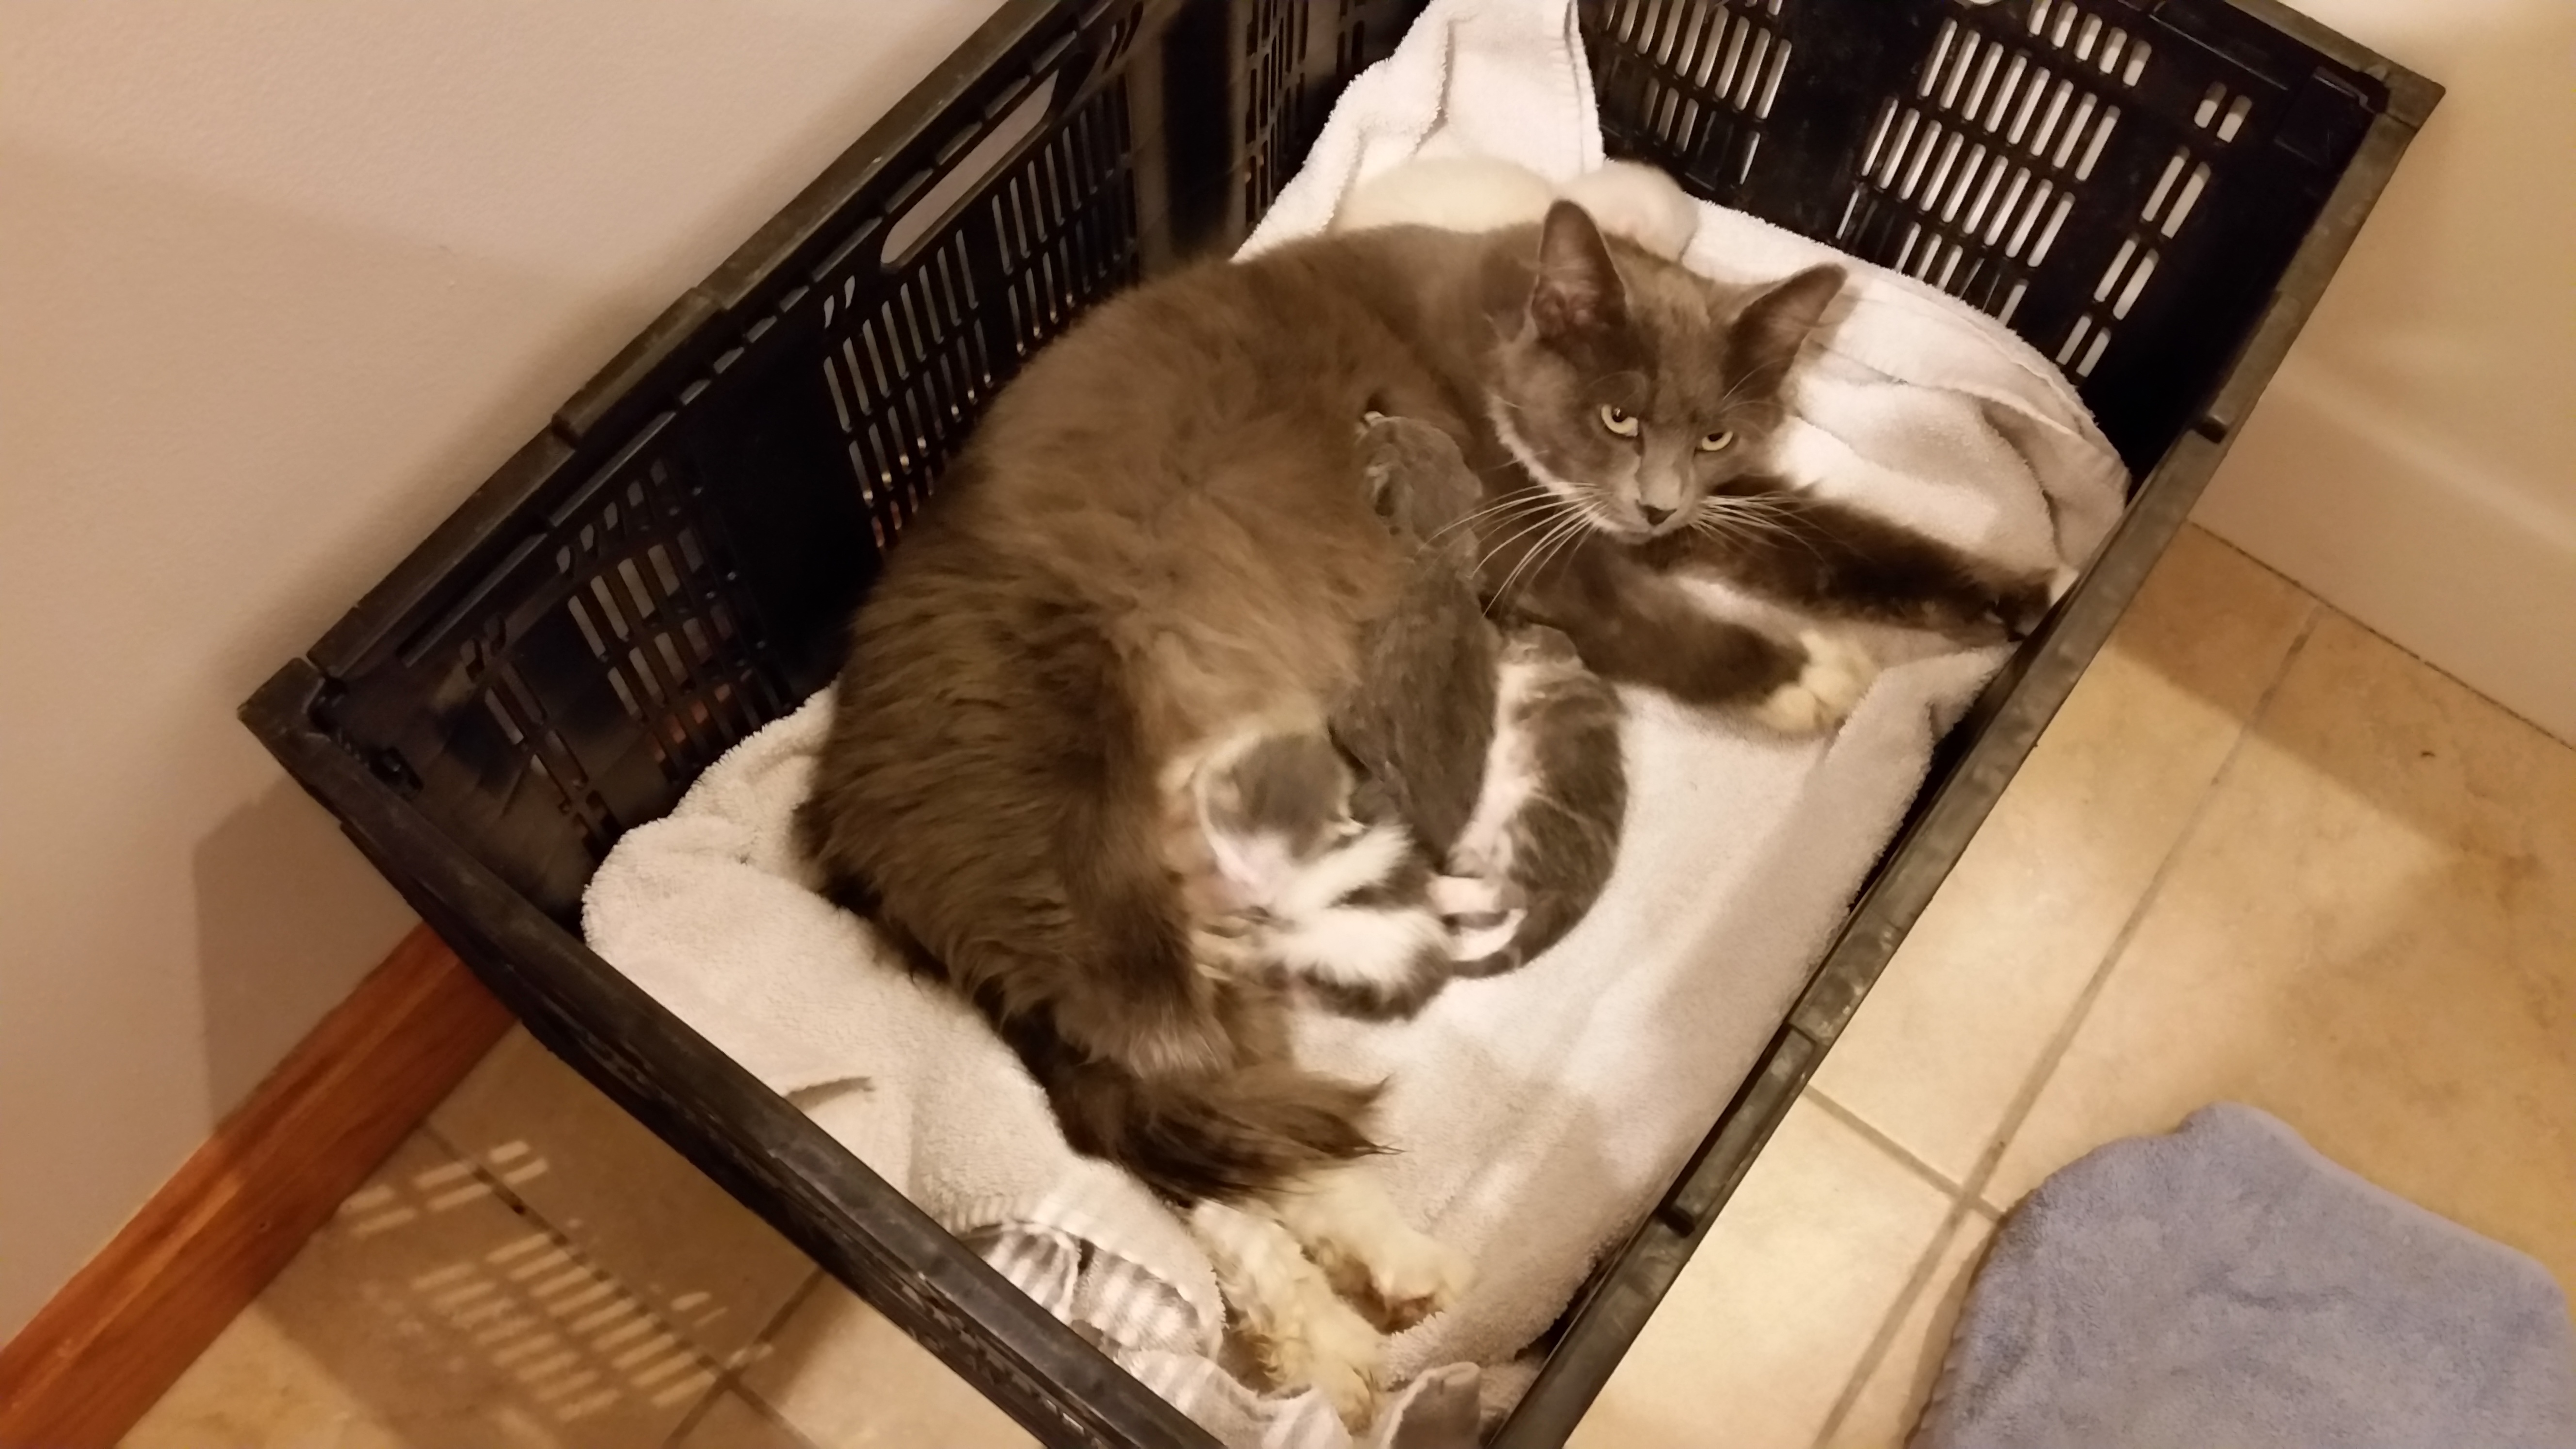
[[[1381,1150],[1368,1137],[1376,1085],[1285,1057],[1146,1078],[1074,1049],[1038,1018],[1005,1024],[1002,1034],[1046,1088],[1077,1152],[1118,1163],[1180,1204],[1267,1196]]]

